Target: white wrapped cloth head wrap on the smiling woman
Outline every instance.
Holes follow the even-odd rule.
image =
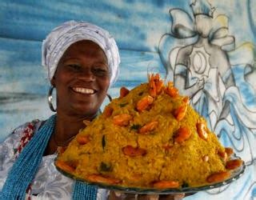
[[[42,42],[42,66],[48,70],[48,78],[51,80],[54,77],[58,62],[67,48],[81,40],[93,41],[102,48],[110,68],[110,85],[112,85],[119,74],[118,46],[108,31],[88,22],[65,22],[54,28]]]

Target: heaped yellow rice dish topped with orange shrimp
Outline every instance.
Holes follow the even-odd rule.
[[[203,186],[230,177],[231,160],[206,121],[159,75],[122,88],[102,114],[81,130],[55,162],[87,182],[139,188]]]

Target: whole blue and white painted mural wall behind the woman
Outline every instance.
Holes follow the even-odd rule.
[[[255,0],[1,1],[0,141],[18,125],[52,114],[42,39],[67,20],[93,22],[120,48],[112,98],[121,86],[133,88],[157,71],[245,160],[237,181],[185,199],[256,199],[255,16]]]

